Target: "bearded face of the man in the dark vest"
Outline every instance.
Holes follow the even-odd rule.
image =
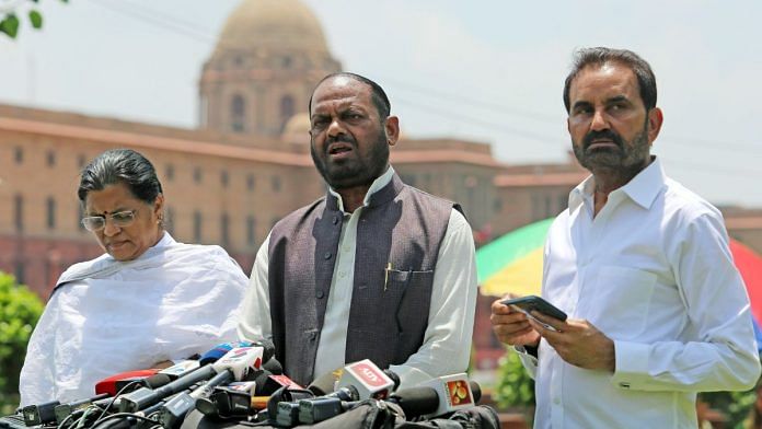
[[[321,83],[312,95],[310,123],[312,160],[334,189],[369,186],[386,171],[396,118],[382,124],[367,84],[346,77]]]

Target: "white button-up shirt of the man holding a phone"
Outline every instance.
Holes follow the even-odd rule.
[[[658,159],[593,219],[593,178],[549,231],[542,293],[614,340],[616,370],[566,363],[544,340],[535,428],[695,428],[695,393],[760,375],[749,299],[719,211]],[[535,366],[536,364],[536,366]]]

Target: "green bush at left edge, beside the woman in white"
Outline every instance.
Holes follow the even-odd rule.
[[[26,286],[0,273],[0,415],[19,405],[19,373],[43,309],[43,302]]]

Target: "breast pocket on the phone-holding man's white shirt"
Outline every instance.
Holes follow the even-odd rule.
[[[627,267],[602,267],[592,293],[587,293],[588,318],[612,339],[637,338],[646,327],[656,275]]]

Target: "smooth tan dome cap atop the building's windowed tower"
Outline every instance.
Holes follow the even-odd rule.
[[[252,48],[328,53],[318,18],[299,0],[243,0],[233,10],[216,50]]]

